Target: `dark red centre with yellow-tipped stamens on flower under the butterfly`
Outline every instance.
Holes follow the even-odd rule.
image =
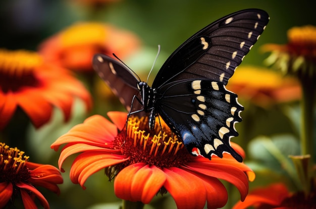
[[[172,136],[170,128],[158,118],[153,130],[149,131],[148,118],[130,117],[127,131],[123,129],[114,140],[114,149],[121,149],[129,160],[120,165],[119,170],[128,165],[144,162],[158,168],[180,167],[191,161],[183,143]],[[164,130],[162,133],[161,130]]]

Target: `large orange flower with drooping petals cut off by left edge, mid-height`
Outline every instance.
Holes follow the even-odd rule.
[[[64,112],[67,121],[74,97],[83,99],[87,110],[91,108],[89,93],[65,69],[43,62],[31,51],[0,49],[0,129],[17,107],[36,128],[49,121],[54,106]]]

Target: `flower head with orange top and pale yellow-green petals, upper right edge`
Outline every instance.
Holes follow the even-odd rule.
[[[268,64],[276,64],[283,72],[299,76],[316,76],[316,27],[307,25],[288,30],[286,45],[266,44],[272,51]]]

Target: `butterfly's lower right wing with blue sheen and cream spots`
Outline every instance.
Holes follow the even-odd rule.
[[[241,121],[243,110],[235,93],[215,80],[187,79],[171,83],[163,95],[157,110],[189,152],[209,159],[229,152],[242,161],[230,146],[230,138],[238,135],[235,123]]]

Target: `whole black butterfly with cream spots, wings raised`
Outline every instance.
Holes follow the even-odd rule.
[[[150,129],[160,115],[191,154],[211,159],[228,152],[242,162],[230,138],[244,108],[225,85],[268,22],[265,11],[247,9],[206,26],[174,51],[152,87],[105,55],[94,56],[93,68],[130,114],[149,115]]]

